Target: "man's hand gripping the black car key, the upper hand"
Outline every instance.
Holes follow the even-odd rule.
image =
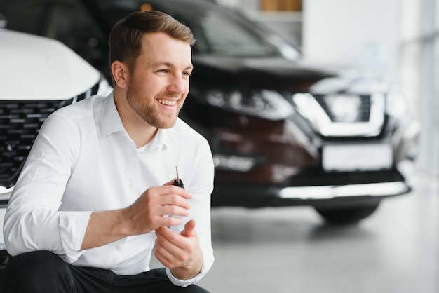
[[[191,194],[186,189],[173,185],[173,180],[163,186],[151,187],[137,198],[133,205],[124,211],[130,219],[132,234],[143,234],[154,231],[160,226],[175,226],[182,224],[179,217],[163,217],[175,215],[187,217]]]

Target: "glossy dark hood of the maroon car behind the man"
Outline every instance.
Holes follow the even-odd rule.
[[[308,91],[337,74],[309,67],[283,57],[215,57],[194,55],[192,83],[216,83],[230,87],[258,87],[276,90]]]

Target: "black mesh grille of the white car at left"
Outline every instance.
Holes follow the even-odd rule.
[[[20,174],[36,135],[56,109],[97,93],[98,84],[69,100],[0,101],[0,186],[11,188]]]

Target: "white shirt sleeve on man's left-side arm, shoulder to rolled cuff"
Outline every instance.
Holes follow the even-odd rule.
[[[48,250],[71,262],[83,253],[91,212],[58,211],[79,139],[79,131],[60,116],[43,123],[6,210],[4,238],[11,255]]]

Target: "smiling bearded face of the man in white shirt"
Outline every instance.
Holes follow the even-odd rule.
[[[189,93],[192,68],[189,43],[163,33],[145,34],[128,81],[128,104],[149,125],[173,127]]]

